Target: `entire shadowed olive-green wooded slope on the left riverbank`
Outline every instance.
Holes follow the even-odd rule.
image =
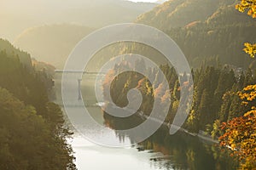
[[[22,63],[20,54],[32,63],[29,54],[8,43],[0,40],[0,169],[76,169],[71,133],[48,99],[51,78]]]

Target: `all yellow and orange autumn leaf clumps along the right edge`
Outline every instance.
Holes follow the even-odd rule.
[[[255,0],[241,0],[236,8],[240,12],[248,10],[247,14],[256,18]],[[246,42],[245,47],[244,51],[254,58],[256,44]],[[234,155],[240,158],[242,169],[254,169],[256,168],[256,81],[244,87],[237,94],[241,99],[241,105],[245,108],[245,113],[229,122],[223,122],[221,127],[224,134],[219,139],[221,145],[229,146]]]

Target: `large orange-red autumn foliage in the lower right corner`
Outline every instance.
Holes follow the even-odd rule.
[[[219,140],[222,146],[233,150],[232,155],[240,158],[242,169],[253,169],[256,168],[256,84],[247,86],[238,95],[241,105],[250,105],[251,110],[230,122],[224,122],[224,134]]]

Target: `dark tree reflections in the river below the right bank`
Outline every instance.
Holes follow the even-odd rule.
[[[116,118],[104,113],[105,125],[115,130],[135,127],[141,122],[139,116]],[[117,133],[120,142],[129,134]],[[138,144],[138,151],[152,150],[163,156],[152,157],[153,166],[164,169],[236,169],[237,161],[229,156],[228,150],[222,151],[216,144],[207,144],[187,133],[169,135],[169,128],[162,126],[151,137]]]

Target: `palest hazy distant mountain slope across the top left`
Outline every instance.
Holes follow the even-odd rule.
[[[131,22],[137,15],[156,6],[156,3],[132,3],[123,0],[15,0],[0,6],[0,37],[13,41],[20,32],[45,23],[72,23],[102,27]]]

